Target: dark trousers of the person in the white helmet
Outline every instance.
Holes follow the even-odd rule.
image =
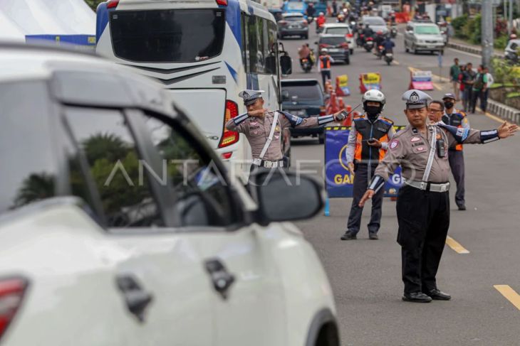
[[[374,176],[375,165],[368,165],[367,163],[358,163],[355,168],[354,186],[353,186],[353,200],[350,207],[350,215],[348,215],[347,230],[352,234],[358,234],[361,226],[361,215],[363,214],[363,207],[359,206],[359,201],[365,194],[368,188],[368,183]],[[385,190],[381,188],[378,193],[372,198],[372,215],[370,216],[370,223],[368,224],[368,232],[370,234],[378,233],[381,225],[381,207],[383,205],[383,195]]]

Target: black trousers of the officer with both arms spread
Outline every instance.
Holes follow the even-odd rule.
[[[403,185],[397,197],[405,293],[437,288],[437,270],[449,228],[449,193]]]

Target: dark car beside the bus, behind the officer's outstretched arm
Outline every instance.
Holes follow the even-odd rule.
[[[325,115],[325,97],[318,80],[282,80],[282,109],[298,117],[319,117]],[[318,137],[323,144],[323,126],[291,129],[291,137]]]

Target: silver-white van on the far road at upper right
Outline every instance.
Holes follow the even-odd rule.
[[[405,50],[416,54],[419,51],[431,53],[444,50],[444,37],[435,23],[408,22],[405,32]]]

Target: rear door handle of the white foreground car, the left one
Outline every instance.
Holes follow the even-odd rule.
[[[142,288],[131,274],[123,274],[116,278],[118,288],[123,293],[125,298],[125,304],[132,313],[135,315],[140,323],[145,321],[145,310],[150,303],[153,301],[152,293]]]

